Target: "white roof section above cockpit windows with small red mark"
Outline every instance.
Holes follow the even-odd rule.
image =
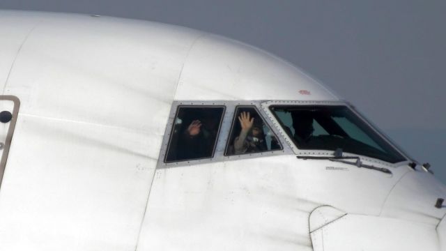
[[[194,43],[175,99],[339,100],[290,63],[220,36],[202,36]]]

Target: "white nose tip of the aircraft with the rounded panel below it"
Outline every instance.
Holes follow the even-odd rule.
[[[316,208],[309,218],[313,249],[446,251],[445,195],[443,183],[417,170],[394,185],[379,215]]]

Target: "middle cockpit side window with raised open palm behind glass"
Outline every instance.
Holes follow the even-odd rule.
[[[254,107],[237,107],[225,155],[282,149],[277,137]]]

